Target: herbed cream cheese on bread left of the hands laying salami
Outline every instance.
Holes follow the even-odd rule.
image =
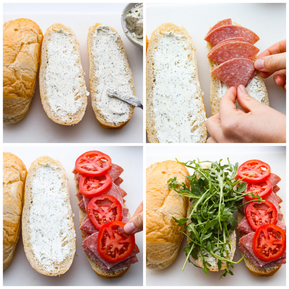
[[[152,102],[158,142],[200,142],[206,115],[197,66],[188,58],[189,40],[173,31],[157,36]]]

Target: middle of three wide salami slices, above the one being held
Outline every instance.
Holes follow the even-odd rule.
[[[211,50],[208,54],[208,58],[218,64],[221,64],[233,58],[247,58],[252,60],[259,51],[260,49],[247,42],[225,42],[222,45]]]

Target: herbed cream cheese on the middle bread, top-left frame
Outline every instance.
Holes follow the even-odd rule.
[[[64,29],[50,29],[47,43],[46,87],[48,103],[63,121],[86,105],[82,95],[89,95],[79,68],[79,54],[73,48],[73,34]]]

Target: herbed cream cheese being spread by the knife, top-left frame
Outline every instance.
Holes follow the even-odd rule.
[[[118,47],[120,38],[117,32],[112,32],[108,25],[99,25],[93,32],[92,53],[94,60],[94,73],[97,77],[97,91],[95,97],[97,110],[105,116],[109,123],[121,123],[129,119],[131,105],[116,97],[109,97],[108,88],[122,91],[131,91],[130,68],[124,60],[124,53]]]

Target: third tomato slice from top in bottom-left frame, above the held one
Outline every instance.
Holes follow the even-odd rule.
[[[115,197],[106,194],[92,198],[86,212],[92,225],[98,230],[105,223],[123,219],[121,203]]]

